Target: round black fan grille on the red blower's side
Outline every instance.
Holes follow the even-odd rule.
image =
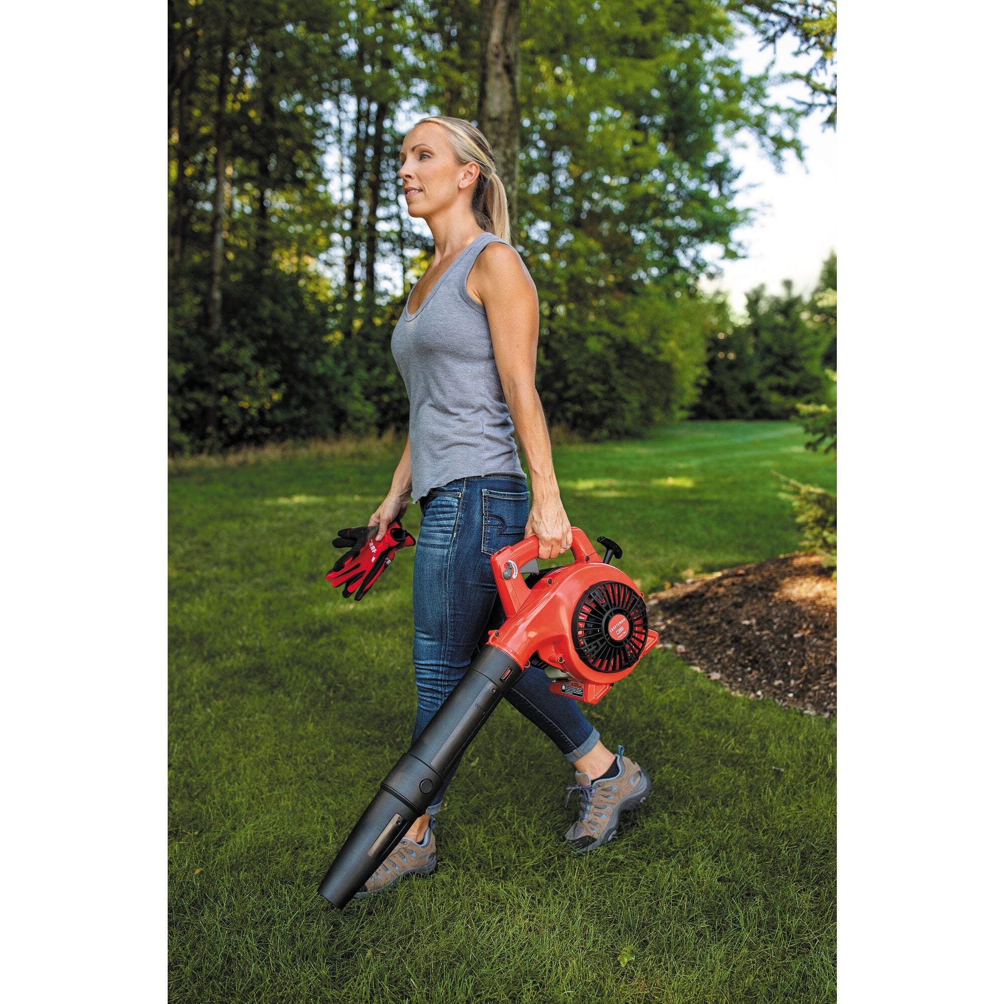
[[[618,613],[628,618],[628,634],[619,642],[606,625]],[[597,673],[620,673],[641,658],[649,635],[645,600],[623,582],[597,582],[583,593],[572,617],[571,637],[579,659]]]

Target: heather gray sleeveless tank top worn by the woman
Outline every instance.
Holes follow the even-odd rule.
[[[414,502],[455,478],[514,474],[526,480],[488,315],[467,292],[475,260],[493,241],[505,243],[487,231],[476,237],[415,313],[410,293],[391,337],[408,391]]]

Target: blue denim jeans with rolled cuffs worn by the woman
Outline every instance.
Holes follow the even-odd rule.
[[[530,513],[526,482],[508,474],[458,478],[420,500],[422,528],[412,584],[415,685],[419,710],[414,742],[467,671],[488,624],[502,613],[492,554],[523,539]],[[569,762],[584,756],[599,733],[577,701],[552,694],[543,670],[531,666],[506,700],[554,741]],[[456,771],[447,775],[428,811],[435,813]]]

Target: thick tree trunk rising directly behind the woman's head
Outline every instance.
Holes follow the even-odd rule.
[[[495,167],[509,200],[509,226],[517,239],[519,189],[520,0],[482,0],[478,126],[492,145]]]

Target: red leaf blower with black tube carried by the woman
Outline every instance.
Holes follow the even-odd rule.
[[[318,890],[334,906],[344,907],[425,812],[523,670],[540,666],[553,693],[595,704],[659,641],[649,630],[644,593],[609,563],[620,557],[620,548],[598,537],[606,547],[600,560],[578,527],[571,536],[574,561],[534,572],[526,581],[520,568],[537,556],[535,536],[492,555],[506,619],[489,631],[467,673],[394,765],[338,851]]]

